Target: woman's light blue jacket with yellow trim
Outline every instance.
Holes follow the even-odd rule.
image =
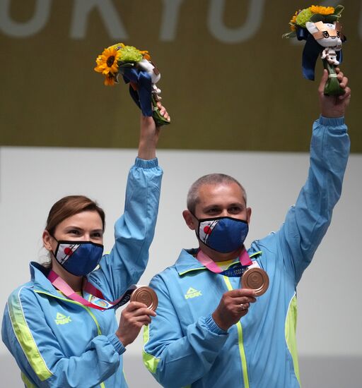
[[[129,171],[124,214],[115,224],[115,245],[88,280],[108,301],[136,283],[148,261],[160,197],[157,159],[136,158]],[[26,387],[127,387],[115,332],[115,310],[100,311],[70,301],[30,264],[31,280],[11,293],[2,339],[21,368]],[[83,293],[84,298],[89,298]]]

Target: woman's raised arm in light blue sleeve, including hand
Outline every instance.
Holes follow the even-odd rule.
[[[168,118],[165,108],[160,106],[160,112]],[[138,157],[129,171],[124,214],[115,223],[115,245],[100,261],[100,270],[89,276],[110,300],[136,283],[148,262],[163,174],[156,159],[159,134],[153,119],[141,116]]]

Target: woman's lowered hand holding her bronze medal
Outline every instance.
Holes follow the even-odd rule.
[[[116,332],[116,336],[123,346],[132,344],[139,335],[141,327],[151,322],[151,316],[156,317],[156,313],[147,308],[144,303],[130,302],[124,308]]]

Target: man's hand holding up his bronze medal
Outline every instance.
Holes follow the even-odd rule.
[[[227,330],[239,322],[240,318],[247,314],[250,303],[257,301],[255,296],[255,291],[250,289],[236,289],[224,293],[218,307],[212,313],[216,325]]]

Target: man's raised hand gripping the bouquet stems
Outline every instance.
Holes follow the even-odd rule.
[[[320,96],[320,109],[322,116],[325,117],[341,117],[344,116],[346,107],[348,107],[349,100],[351,99],[351,89],[347,86],[348,78],[336,68],[337,78],[339,85],[346,92],[341,96],[325,96],[325,84],[328,80],[328,71],[324,70],[322,79],[320,80],[320,86],[318,87],[318,94]]]

